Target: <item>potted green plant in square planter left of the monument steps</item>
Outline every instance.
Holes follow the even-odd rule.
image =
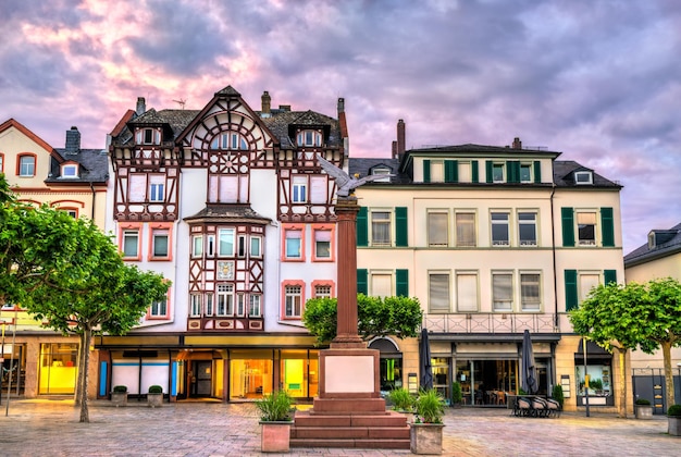
[[[290,425],[295,409],[293,398],[284,391],[277,391],[256,400],[260,411],[263,453],[287,453],[290,447]]]

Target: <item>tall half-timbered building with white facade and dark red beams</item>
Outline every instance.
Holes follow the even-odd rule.
[[[138,329],[103,336],[99,395],[160,384],[171,398],[317,394],[305,300],[335,295],[335,184],[347,168],[337,116],[253,110],[233,87],[200,110],[127,111],[111,134],[108,228],[124,258],[172,282]]]

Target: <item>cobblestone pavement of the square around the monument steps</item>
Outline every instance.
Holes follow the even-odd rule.
[[[79,423],[72,400],[14,399],[0,408],[0,456],[257,456],[258,413],[250,404],[177,403],[115,408],[91,402]],[[456,408],[445,417],[444,456],[672,456],[681,437],[666,417],[652,420],[562,413],[516,418],[506,409]],[[273,454],[269,454],[273,455]],[[274,454],[276,455],[276,454]],[[289,455],[393,456],[409,450],[292,449]]]

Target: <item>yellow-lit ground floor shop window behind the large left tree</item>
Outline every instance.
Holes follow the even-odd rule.
[[[44,343],[40,345],[38,394],[73,394],[77,373],[77,343]]]

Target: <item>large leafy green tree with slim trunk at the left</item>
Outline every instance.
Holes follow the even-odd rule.
[[[170,283],[123,262],[91,222],[17,202],[0,176],[0,302],[20,304],[46,326],[81,339],[76,403],[89,422],[87,384],[94,333],[121,335],[139,323]]]

